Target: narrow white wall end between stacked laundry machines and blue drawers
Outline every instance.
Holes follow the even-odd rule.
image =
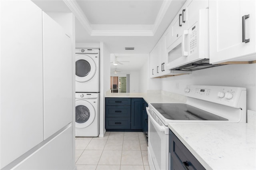
[[[100,137],[103,137],[105,129],[105,96],[110,90],[110,52],[105,43],[100,42]]]

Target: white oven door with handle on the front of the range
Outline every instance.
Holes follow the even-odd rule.
[[[168,169],[168,150],[169,150],[169,128],[164,124],[159,125],[149,113],[149,108],[146,108],[148,113],[148,155],[149,162],[153,162],[154,167],[150,165],[150,169],[167,170]],[[152,112],[152,114],[155,114]],[[158,117],[154,116],[156,119]],[[161,122],[161,121],[160,121]]]

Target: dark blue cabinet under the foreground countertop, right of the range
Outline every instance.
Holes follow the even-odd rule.
[[[171,130],[169,131],[169,170],[205,170]]]

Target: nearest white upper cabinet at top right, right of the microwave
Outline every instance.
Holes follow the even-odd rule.
[[[210,0],[210,63],[256,60],[255,0]]]

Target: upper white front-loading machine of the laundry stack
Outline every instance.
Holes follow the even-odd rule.
[[[76,48],[76,92],[100,92],[100,49]]]

